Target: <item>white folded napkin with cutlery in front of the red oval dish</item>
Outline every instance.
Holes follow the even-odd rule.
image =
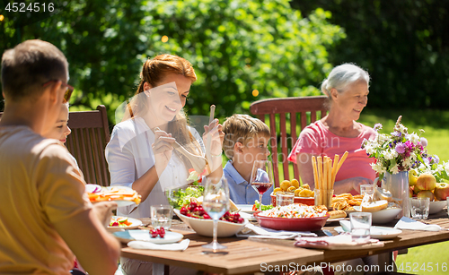
[[[242,231],[236,234],[236,236],[293,240],[296,236],[316,236],[316,234],[310,231],[284,231],[262,228],[248,223]]]

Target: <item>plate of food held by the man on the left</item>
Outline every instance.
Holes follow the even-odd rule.
[[[140,203],[140,195],[127,186],[86,185],[86,192],[91,202],[113,201],[119,207]]]

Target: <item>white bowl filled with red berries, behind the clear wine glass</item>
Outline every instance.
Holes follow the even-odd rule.
[[[213,220],[204,211],[202,205],[198,202],[189,202],[183,205],[180,210],[173,210],[180,219],[195,230],[198,235],[212,236]],[[233,236],[238,233],[248,223],[238,212],[225,212],[222,218],[218,220],[217,236]]]

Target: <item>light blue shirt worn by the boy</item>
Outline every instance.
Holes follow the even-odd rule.
[[[254,204],[255,200],[259,201],[259,193],[252,188],[252,186],[237,172],[233,167],[233,162],[229,160],[225,168],[223,168],[223,174],[229,185],[229,193],[231,200],[236,204]],[[262,204],[271,204],[270,193],[273,192],[273,186],[269,190],[263,193]]]

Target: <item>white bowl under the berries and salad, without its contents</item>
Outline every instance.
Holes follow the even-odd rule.
[[[184,216],[179,210],[173,210],[180,219],[185,222],[190,228],[195,230],[198,235],[212,236],[214,229],[214,221],[212,219],[196,219]],[[244,219],[244,218],[243,218]],[[242,230],[248,223],[248,219],[244,219],[243,223],[233,223],[224,220],[218,220],[216,236],[225,237],[233,236]]]

